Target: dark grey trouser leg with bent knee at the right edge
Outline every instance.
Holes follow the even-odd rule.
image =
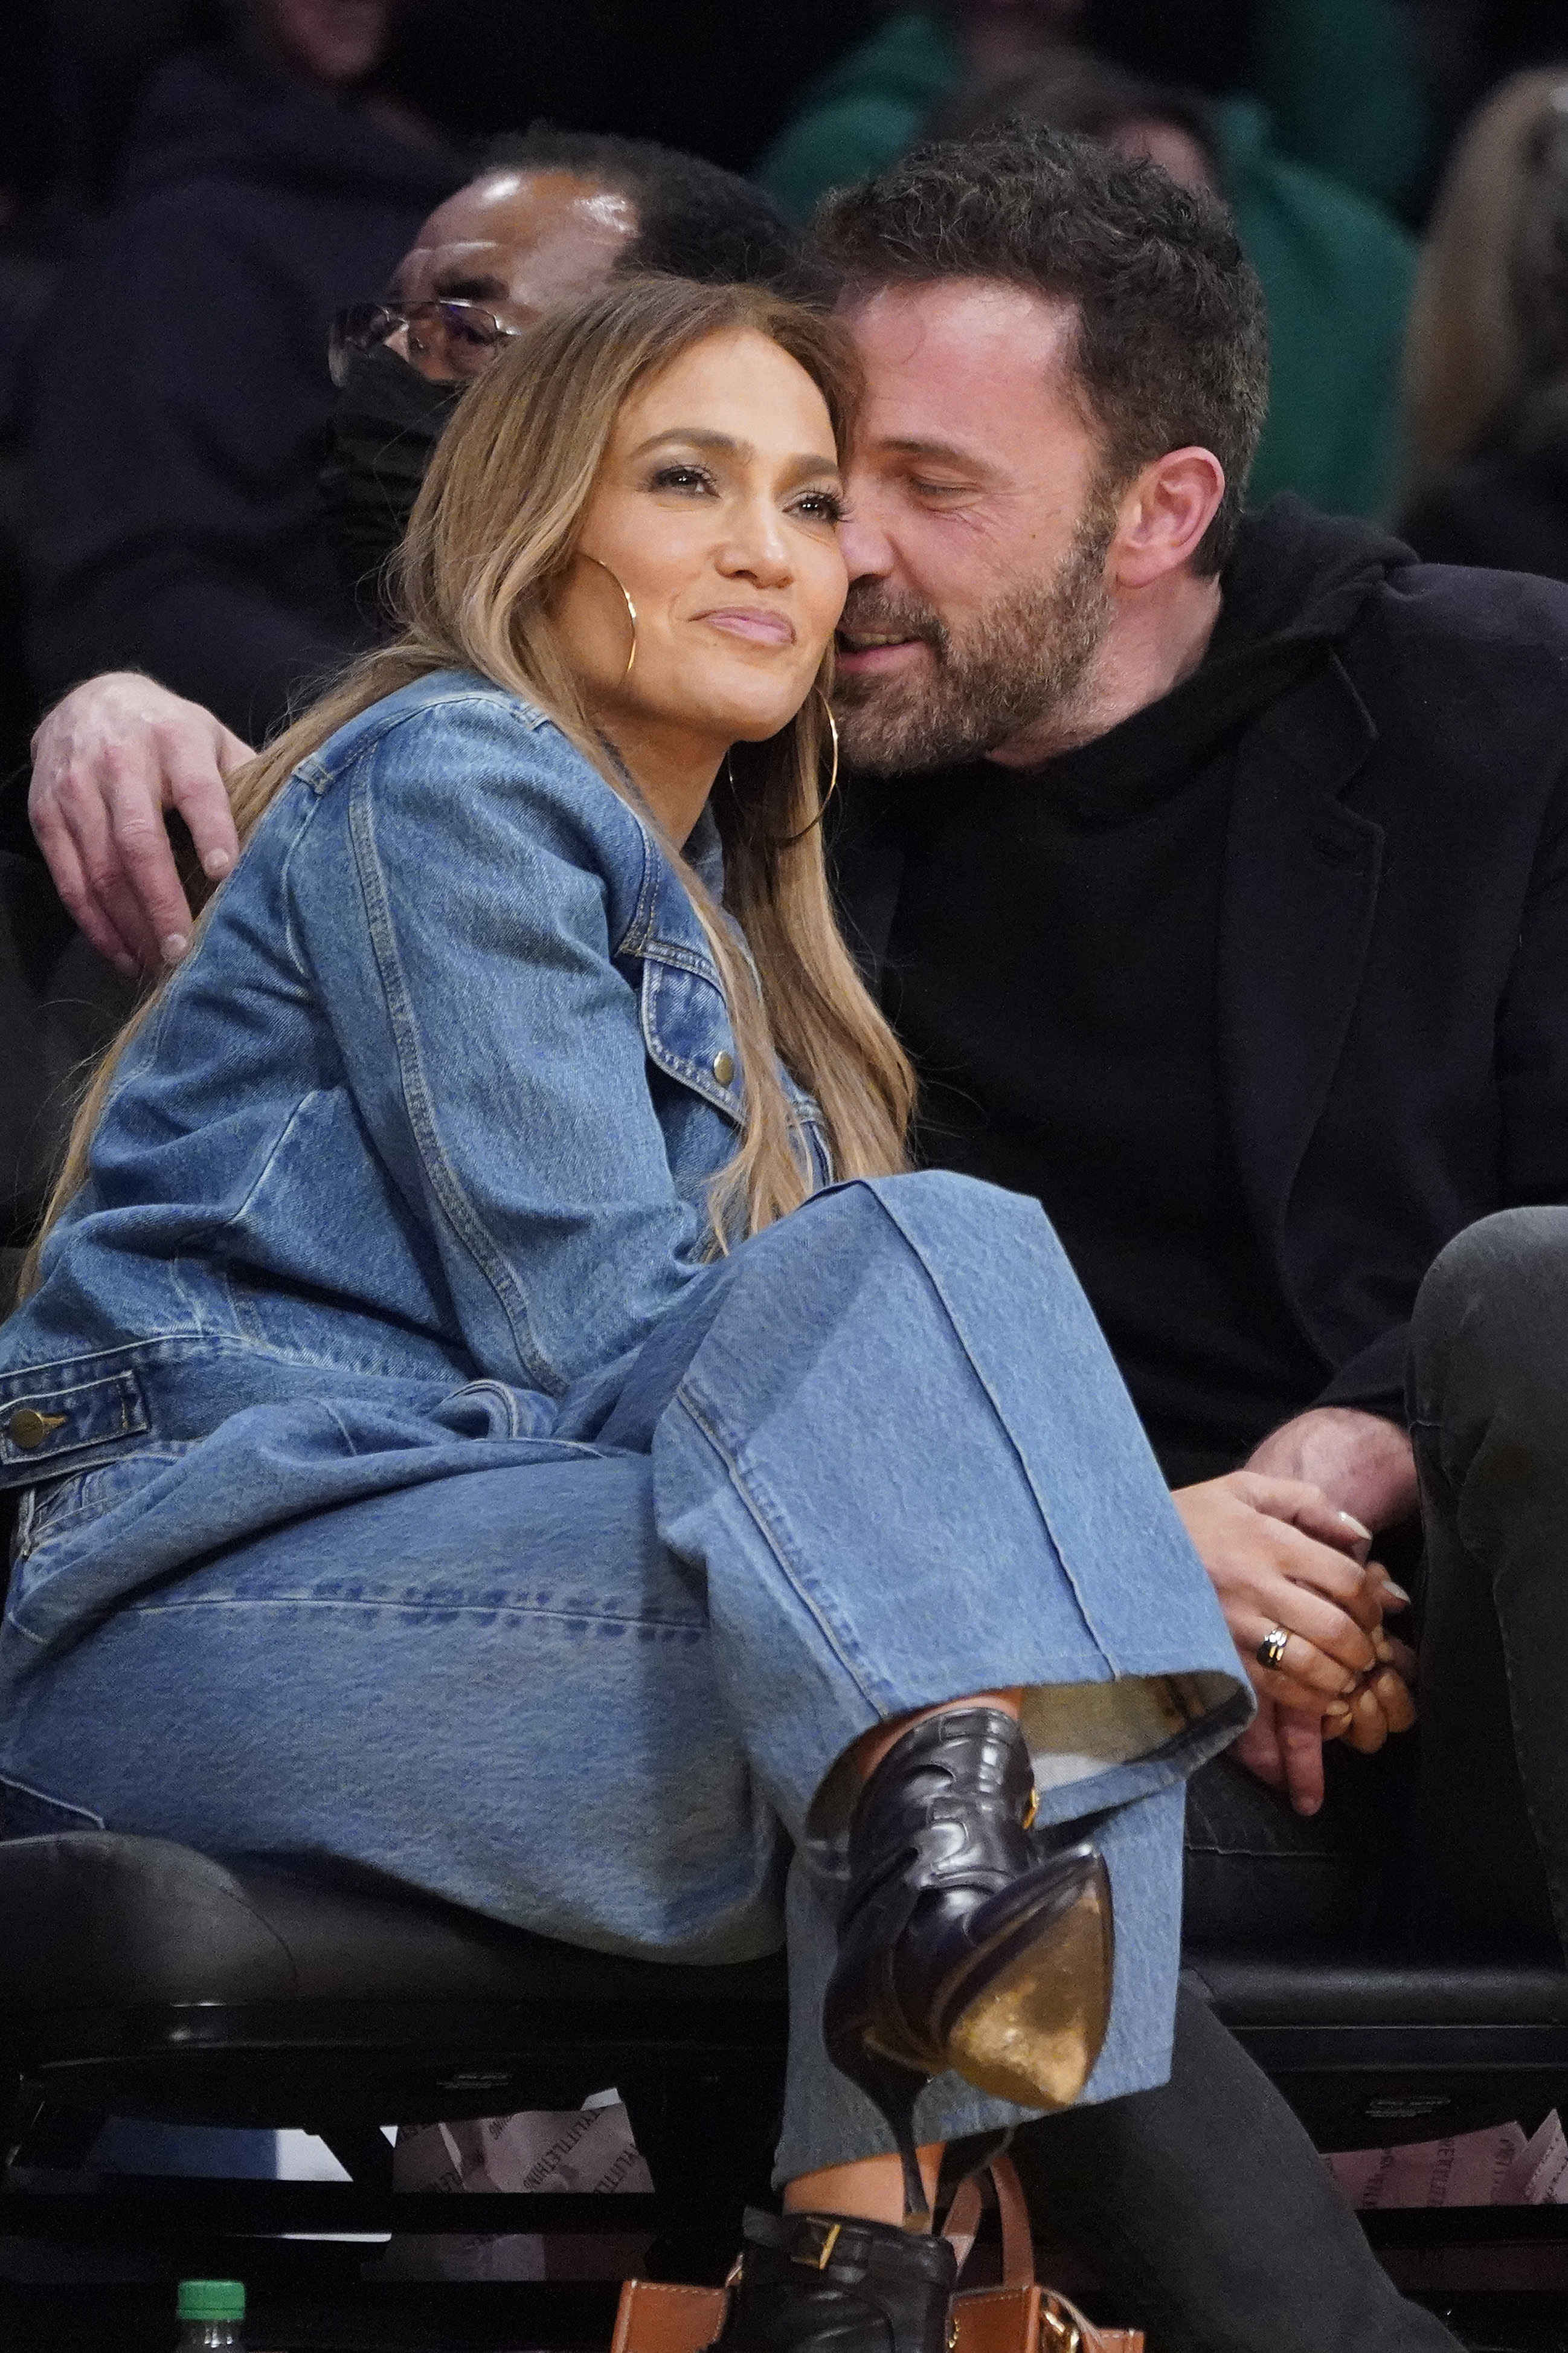
[[[1568,1209],[1462,1233],[1415,1304],[1427,1518],[1413,1927],[1568,1946]]]

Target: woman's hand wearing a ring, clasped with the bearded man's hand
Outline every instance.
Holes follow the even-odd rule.
[[[1258,1699],[1345,1729],[1356,1678],[1380,1664],[1373,1631],[1387,1579],[1366,1567],[1366,1527],[1319,1487],[1260,1471],[1180,1487],[1173,1504]],[[1291,1640],[1279,1668],[1267,1668],[1258,1645],[1274,1626]]]

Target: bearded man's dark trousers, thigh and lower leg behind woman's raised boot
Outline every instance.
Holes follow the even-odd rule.
[[[1300,1817],[1229,1758],[1187,1786],[1194,1946],[1347,1951],[1385,1925],[1406,1744],[1328,1753]],[[1105,2313],[1159,2353],[1458,2353],[1396,2294],[1274,2085],[1213,2012],[1178,1998],[1171,2082],[1027,2125],[1013,2144],[1041,2238],[1105,2280]]]

